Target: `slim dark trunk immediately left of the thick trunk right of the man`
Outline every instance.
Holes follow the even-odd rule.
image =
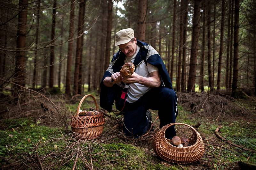
[[[184,0],[181,92],[186,92],[186,45],[187,45],[187,25],[188,25],[188,0]]]

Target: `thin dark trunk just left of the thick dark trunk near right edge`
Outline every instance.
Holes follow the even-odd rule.
[[[231,31],[230,31],[230,61],[229,61],[229,81],[228,88],[231,88],[232,65],[233,65],[233,25],[234,25],[234,0],[231,0]]]

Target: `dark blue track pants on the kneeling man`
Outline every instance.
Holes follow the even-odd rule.
[[[146,111],[158,110],[160,128],[174,123],[178,115],[176,92],[167,87],[152,88],[134,103],[126,102],[124,108],[124,133],[126,136],[138,137],[148,129]],[[168,128],[165,137],[172,139],[176,135],[174,126]]]

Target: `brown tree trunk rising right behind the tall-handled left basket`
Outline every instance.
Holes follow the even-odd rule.
[[[83,45],[84,45],[84,16],[85,16],[85,1],[86,0],[80,0],[79,3],[79,21],[78,21],[78,32],[80,41],[77,39],[77,43],[80,43],[79,46],[77,45],[76,52],[77,52],[77,58],[79,58],[79,73],[78,73],[78,94],[82,94],[82,84],[83,82]]]

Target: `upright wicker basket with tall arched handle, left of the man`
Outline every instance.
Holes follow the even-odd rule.
[[[105,123],[104,114],[101,112],[100,114],[94,116],[79,116],[79,109],[84,99],[89,96],[92,97],[97,111],[100,112],[97,101],[91,94],[87,94],[82,98],[77,107],[75,116],[72,115],[71,121],[71,129],[73,132],[76,132],[76,137],[79,139],[93,139],[100,136]]]

